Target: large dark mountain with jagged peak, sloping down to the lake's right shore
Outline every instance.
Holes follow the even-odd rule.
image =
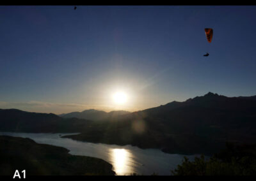
[[[224,148],[227,141],[255,143],[256,101],[209,92],[184,102],[173,101],[95,123],[81,134],[65,137],[161,148],[169,153],[211,155]]]

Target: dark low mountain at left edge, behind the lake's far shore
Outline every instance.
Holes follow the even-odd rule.
[[[53,113],[24,112],[17,109],[0,109],[0,131],[33,133],[79,132],[90,120],[62,119]]]

